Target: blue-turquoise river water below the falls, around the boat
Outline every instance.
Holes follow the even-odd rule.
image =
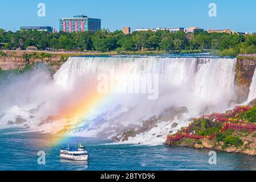
[[[68,138],[58,145],[50,135],[0,130],[0,170],[255,170],[256,158],[217,152],[217,165],[208,163],[208,150],[166,146],[111,144],[95,138]],[[59,158],[62,144],[82,142],[90,152],[88,162]],[[46,152],[46,165],[39,165],[38,151]]]

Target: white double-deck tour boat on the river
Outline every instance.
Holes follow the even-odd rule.
[[[89,154],[86,147],[80,143],[78,147],[63,147],[60,150],[60,158],[68,160],[88,160]]]

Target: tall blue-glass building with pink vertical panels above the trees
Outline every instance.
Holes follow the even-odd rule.
[[[84,15],[74,16],[74,18],[60,18],[59,30],[64,32],[98,31],[101,29],[101,20],[88,18]]]

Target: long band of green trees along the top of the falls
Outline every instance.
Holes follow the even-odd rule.
[[[188,33],[178,31],[140,31],[125,35],[122,31],[111,32],[58,32],[45,31],[5,31],[0,29],[0,43],[3,49],[64,49],[80,51],[165,51],[193,52],[209,51],[222,56],[236,56],[239,53],[256,53],[256,34],[238,35],[208,33],[207,31]]]

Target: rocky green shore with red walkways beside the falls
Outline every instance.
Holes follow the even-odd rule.
[[[239,110],[238,113],[231,115],[212,114],[212,116],[197,118],[190,123],[189,131],[188,129],[180,131],[188,133],[183,134],[186,137],[172,140],[177,134],[170,135],[165,144],[256,156],[256,130],[250,127],[256,126],[252,119],[252,115],[256,114],[256,107],[251,108],[247,111]],[[225,122],[225,119],[227,122]],[[231,126],[234,127],[224,130],[227,123],[233,123]],[[211,137],[213,134],[214,137]]]

